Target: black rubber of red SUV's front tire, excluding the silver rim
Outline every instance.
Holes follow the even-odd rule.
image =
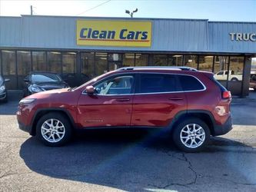
[[[42,136],[42,132],[41,132],[42,124],[50,118],[54,118],[54,119],[57,119],[58,121],[61,121],[65,127],[64,137],[62,138],[61,141],[58,141],[56,143],[51,143],[51,142],[46,141],[45,138]],[[60,147],[64,144],[66,144],[71,139],[71,134],[72,134],[72,130],[71,130],[70,122],[68,121],[67,118],[65,118],[62,114],[59,114],[58,112],[52,112],[52,113],[45,114],[44,116],[42,116],[42,118],[39,119],[38,124],[36,125],[36,136],[45,145],[50,146],[50,147]]]

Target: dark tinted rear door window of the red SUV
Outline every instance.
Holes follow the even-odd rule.
[[[137,93],[181,91],[174,74],[141,74]]]

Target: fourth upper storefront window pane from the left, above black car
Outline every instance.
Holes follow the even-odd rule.
[[[47,52],[47,58],[48,58],[49,71],[61,74],[62,73],[62,53],[56,52],[56,51]]]

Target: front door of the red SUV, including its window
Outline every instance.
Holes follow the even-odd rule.
[[[135,75],[122,74],[95,84],[95,94],[81,94],[78,122],[81,127],[130,126]]]

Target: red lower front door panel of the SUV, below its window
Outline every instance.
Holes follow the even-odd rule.
[[[82,94],[78,101],[81,127],[130,126],[133,95]]]

